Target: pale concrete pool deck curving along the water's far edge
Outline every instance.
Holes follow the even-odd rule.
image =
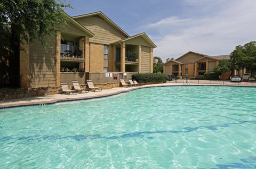
[[[129,92],[134,89],[148,88],[148,87],[164,87],[164,86],[183,86],[183,82],[182,83],[166,82],[166,83],[159,83],[154,85],[145,85],[145,86],[127,87],[127,88],[119,87],[119,88],[112,88],[112,89],[103,89],[102,91],[95,91],[95,92],[90,91],[89,93],[86,93],[86,94],[82,93],[77,95],[76,94],[70,94],[70,95],[58,94],[58,95],[46,95],[46,96],[38,96],[38,97],[3,100],[0,102],[0,109],[10,108],[10,107],[20,107],[20,106],[54,104],[57,102],[67,102],[71,100],[100,98],[100,97],[121,94],[122,92]],[[211,85],[211,84],[205,84],[205,83],[204,84],[191,83],[190,86],[238,86],[238,85],[218,85],[218,84]]]

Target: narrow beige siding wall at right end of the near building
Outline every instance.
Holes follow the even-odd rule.
[[[141,73],[150,73],[150,47],[141,46]]]

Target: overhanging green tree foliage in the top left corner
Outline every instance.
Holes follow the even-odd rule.
[[[13,52],[16,47],[38,39],[46,47],[45,37],[53,36],[57,26],[67,24],[67,14],[63,12],[67,7],[71,6],[65,1],[2,0],[0,30],[1,38],[5,39],[4,46]]]

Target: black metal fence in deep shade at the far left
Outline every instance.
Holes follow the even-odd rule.
[[[21,88],[21,75],[9,75],[0,80],[0,89]]]

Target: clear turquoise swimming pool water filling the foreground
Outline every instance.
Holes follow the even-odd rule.
[[[256,168],[256,88],[138,89],[0,110],[0,168]]]

